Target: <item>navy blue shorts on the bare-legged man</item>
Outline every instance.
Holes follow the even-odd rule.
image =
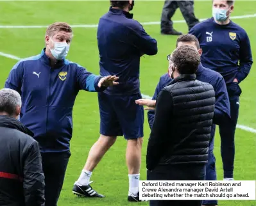
[[[142,138],[144,124],[143,106],[135,104],[141,94],[117,96],[98,93],[100,133],[105,136],[124,136],[125,139]]]

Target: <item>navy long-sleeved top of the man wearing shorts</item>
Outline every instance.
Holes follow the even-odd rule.
[[[139,93],[141,56],[157,54],[157,40],[133,19],[132,13],[112,7],[99,20],[97,38],[100,74],[119,77],[119,84],[104,93],[124,96]]]

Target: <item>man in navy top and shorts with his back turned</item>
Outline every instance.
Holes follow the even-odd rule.
[[[110,1],[108,13],[99,20],[98,48],[101,75],[118,75],[119,84],[98,95],[101,116],[100,137],[76,181],[73,192],[90,196],[86,191],[92,170],[114,144],[117,136],[127,140],[128,201],[139,201],[139,171],[143,137],[144,111],[135,104],[139,90],[140,58],[157,54],[157,41],[149,36],[139,22],[133,20],[134,1]]]

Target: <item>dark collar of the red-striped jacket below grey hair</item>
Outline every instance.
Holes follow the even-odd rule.
[[[10,116],[0,115],[0,127],[17,129],[18,131],[28,134],[31,137],[34,136],[33,132],[31,132],[30,129],[28,129],[27,127],[22,125],[21,122]]]

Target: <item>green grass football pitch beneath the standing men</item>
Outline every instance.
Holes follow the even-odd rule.
[[[134,19],[139,22],[160,20],[164,1],[136,1],[133,9]],[[55,21],[65,21],[72,25],[98,24],[99,17],[108,11],[109,1],[0,1],[0,25],[48,25]],[[195,2],[196,17],[211,17],[211,1]],[[236,1],[233,16],[256,13],[256,1]],[[177,10],[173,20],[183,20]],[[246,29],[250,36],[253,57],[256,59],[256,18],[234,19]],[[175,29],[187,33],[185,23],[175,23]],[[160,26],[146,25],[144,29],[158,41],[158,54],[141,58],[141,91],[153,95],[160,75],[167,71],[166,55],[175,49],[176,36],[160,35]],[[46,28],[0,28],[0,52],[21,58],[38,54],[44,47]],[[96,39],[97,28],[74,28],[74,39],[68,59],[99,74],[99,54]],[[0,88],[10,69],[17,61],[0,56]],[[253,64],[250,75],[241,83],[240,113],[238,123],[256,128],[256,66]],[[146,115],[146,113],[145,113]],[[71,159],[65,176],[64,187],[58,202],[67,205],[132,205],[126,198],[128,194],[128,170],[125,163],[126,141],[120,137],[110,148],[92,175],[92,187],[105,194],[104,199],[88,200],[77,198],[72,193],[74,181],[79,177],[92,144],[99,136],[99,109],[96,93],[81,91],[76,99],[73,112],[74,132],[71,140]],[[144,144],[142,149],[141,180],[146,180],[145,154],[149,127],[145,116]],[[256,136],[253,132],[237,129],[235,136],[235,180],[256,179]],[[216,131],[215,150],[218,179],[223,179],[219,147],[219,132]],[[148,205],[148,203],[139,203]],[[219,205],[252,206],[255,201],[219,201]]]

